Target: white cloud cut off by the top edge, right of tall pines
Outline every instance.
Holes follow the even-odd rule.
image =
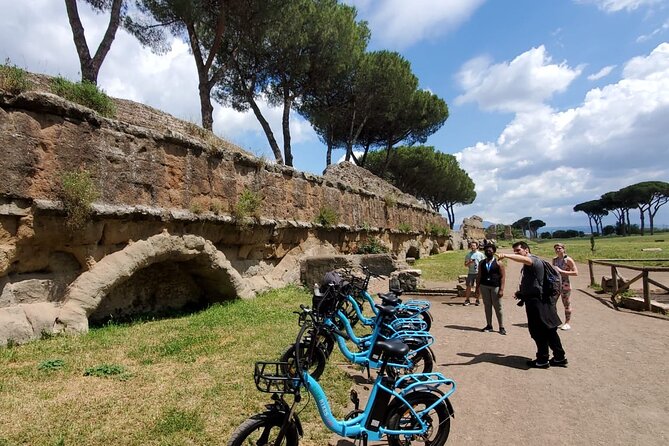
[[[458,28],[485,0],[348,0],[382,46],[407,48]]]

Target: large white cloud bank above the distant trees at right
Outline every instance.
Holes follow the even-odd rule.
[[[458,153],[478,194],[464,212],[495,222],[532,216],[558,225],[573,219],[578,203],[636,182],[666,181],[667,123],[664,43],[629,60],[622,79],[590,90],[580,106],[519,112],[497,141]]]

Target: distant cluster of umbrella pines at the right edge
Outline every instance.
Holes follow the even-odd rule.
[[[584,212],[588,216],[590,232],[605,234],[602,218],[612,213],[616,218],[615,231],[620,235],[633,232],[630,223],[630,210],[639,211],[639,232],[645,233],[646,216],[650,233],[654,231],[654,219],[657,211],[669,201],[669,183],[664,181],[644,181],[632,184],[617,191],[607,192],[598,200],[586,201],[574,206],[574,212]],[[593,228],[594,223],[594,228]]]

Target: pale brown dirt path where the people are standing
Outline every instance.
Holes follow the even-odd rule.
[[[669,320],[615,310],[572,278],[572,330],[560,330],[568,368],[528,369],[535,344],[517,307],[520,265],[508,262],[507,336],[483,333],[483,305],[433,297],[437,370],[453,378],[454,445],[669,444]],[[558,303],[558,312],[563,307]],[[493,325],[497,321],[493,315]],[[350,444],[333,441],[338,446]]]

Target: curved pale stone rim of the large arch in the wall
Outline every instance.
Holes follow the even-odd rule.
[[[81,274],[65,293],[55,331],[85,332],[88,317],[116,287],[135,273],[162,262],[189,262],[208,290],[227,298],[254,296],[246,281],[213,243],[195,235],[167,232],[133,242]]]

